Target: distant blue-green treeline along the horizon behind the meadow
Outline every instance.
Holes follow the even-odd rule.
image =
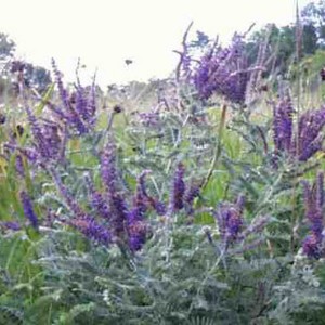
[[[205,49],[210,44],[208,36],[197,31],[197,37],[190,43],[192,49]],[[263,55],[266,65],[264,77],[281,75],[286,77],[297,57],[303,58],[325,49],[325,0],[306,5],[299,20],[286,26],[269,24],[250,32],[246,39],[246,54],[249,63],[255,64]],[[16,44],[5,34],[0,32],[1,76],[10,74],[10,61],[14,60]],[[261,53],[263,52],[263,53]],[[325,64],[325,63],[324,63]],[[52,82],[51,74],[41,66],[25,63],[25,83],[42,93]],[[150,82],[151,83],[151,82]],[[0,91],[3,79],[0,80]],[[108,87],[109,92],[109,87]]]

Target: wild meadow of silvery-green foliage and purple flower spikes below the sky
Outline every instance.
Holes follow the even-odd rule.
[[[0,324],[325,324],[325,52],[278,78],[268,40],[250,63],[186,32],[143,87],[53,61],[39,93],[10,61]]]

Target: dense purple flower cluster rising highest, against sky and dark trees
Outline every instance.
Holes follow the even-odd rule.
[[[202,100],[208,100],[216,93],[242,104],[245,102],[250,74],[243,37],[235,35],[227,48],[222,49],[214,43],[187,75]]]

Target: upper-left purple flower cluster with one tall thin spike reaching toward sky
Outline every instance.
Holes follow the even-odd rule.
[[[90,87],[82,87],[78,81],[75,86],[76,91],[69,94],[63,86],[62,74],[58,72],[54,60],[52,66],[62,105],[51,104],[50,108],[61,121],[64,121],[69,129],[75,130],[78,135],[89,133],[96,120],[95,83],[93,82]]]

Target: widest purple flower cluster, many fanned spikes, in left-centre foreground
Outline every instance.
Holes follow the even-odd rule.
[[[129,203],[130,208],[128,208],[127,199],[120,188],[116,147],[112,140],[101,154],[100,172],[104,191],[98,191],[90,178],[87,177],[90,213],[86,212],[68,193],[55,170],[50,168],[50,171],[56,187],[73,212],[73,219],[68,221],[68,224],[98,243],[105,245],[110,243],[123,244],[131,251],[138,251],[147,238],[148,224],[145,214],[148,208],[155,209],[158,214],[166,213],[165,205],[146,192],[145,177],[148,173],[147,170],[139,176],[135,193],[132,202]],[[170,213],[183,209],[185,205],[192,205],[198,195],[198,187],[194,185],[186,191],[183,180],[184,171],[184,166],[179,164],[169,198]]]

